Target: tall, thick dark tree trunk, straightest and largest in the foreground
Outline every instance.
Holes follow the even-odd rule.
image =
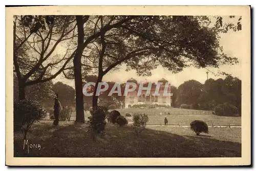
[[[78,30],[77,52],[74,57],[74,76],[76,89],[76,123],[84,123],[83,112],[83,94],[82,94],[82,74],[81,74],[81,57],[83,52],[83,18],[81,15],[76,16]]]

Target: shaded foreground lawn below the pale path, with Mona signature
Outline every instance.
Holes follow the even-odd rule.
[[[87,124],[40,121],[28,134],[41,149],[23,149],[21,133],[14,134],[14,157],[241,157],[240,128],[209,128],[196,136],[189,128],[148,127],[137,137],[131,126],[108,124],[105,136],[92,140]]]

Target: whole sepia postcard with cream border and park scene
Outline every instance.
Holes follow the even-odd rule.
[[[250,165],[250,10],[7,7],[6,165]]]

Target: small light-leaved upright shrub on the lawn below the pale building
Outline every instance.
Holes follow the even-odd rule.
[[[133,127],[137,136],[146,128],[146,123],[149,120],[150,118],[145,113],[135,113],[133,115]]]

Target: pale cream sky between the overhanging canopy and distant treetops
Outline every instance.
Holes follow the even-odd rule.
[[[243,30],[240,32],[232,32],[229,31],[228,33],[221,34],[220,45],[223,46],[223,51],[230,57],[236,57],[239,60],[239,64],[237,65],[222,65],[219,68],[208,68],[211,72],[218,73],[218,71],[224,71],[227,74],[231,74],[233,77],[238,77],[241,79],[241,62],[243,59],[243,54],[245,54],[245,48],[243,47],[245,39],[243,38],[245,35]],[[106,74],[103,78],[103,81],[114,81],[114,82],[126,82],[130,78],[136,79],[138,82],[143,82],[145,80],[157,82],[159,79],[164,78],[170,84],[174,86],[179,86],[184,81],[187,80],[197,80],[201,83],[204,83],[207,79],[206,76],[206,69],[196,69],[194,67],[184,68],[183,71],[179,72],[178,74],[173,74],[172,72],[168,71],[167,69],[159,66],[157,69],[152,70],[151,77],[138,77],[136,75],[135,70],[125,71],[124,66],[119,66],[119,70],[110,71]],[[214,74],[209,72],[208,78],[218,79],[218,78],[225,78],[225,76],[218,76],[215,77]],[[61,74],[53,82],[61,81],[65,84],[70,86],[75,85],[74,80],[67,80]]]

